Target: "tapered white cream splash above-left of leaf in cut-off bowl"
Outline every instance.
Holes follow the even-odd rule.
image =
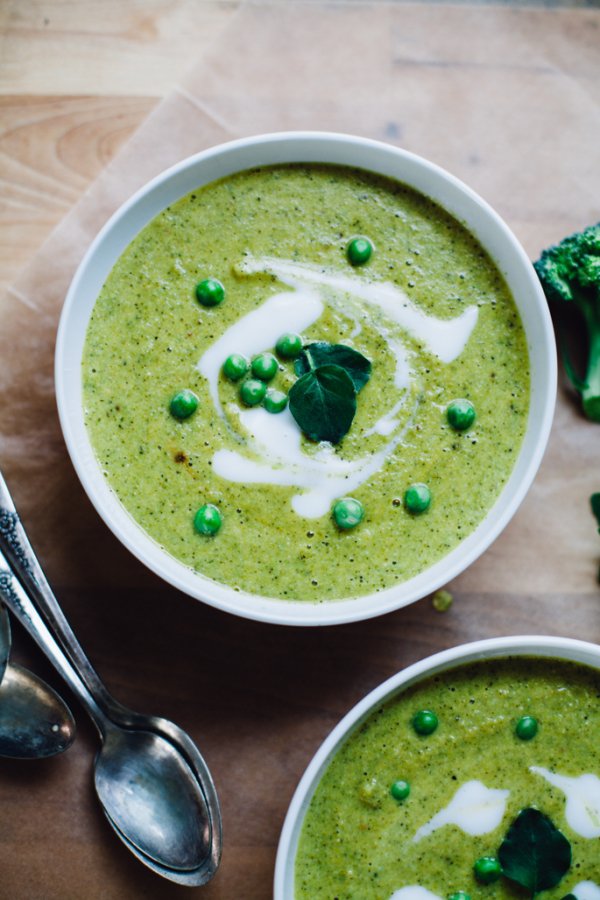
[[[418,829],[413,841],[420,841],[444,825],[457,825],[473,836],[488,834],[500,825],[509,794],[510,791],[487,788],[481,781],[467,781],[448,806]]]

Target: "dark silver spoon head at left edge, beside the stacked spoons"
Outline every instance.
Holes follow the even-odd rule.
[[[0,685],[0,756],[54,756],[74,738],[73,716],[58,694],[33,672],[10,663]]]

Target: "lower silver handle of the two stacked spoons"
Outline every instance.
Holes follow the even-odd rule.
[[[60,644],[55,640],[2,552],[0,552],[0,599],[43,650],[54,668],[62,675],[89,713],[100,734],[103,735],[106,730],[104,713],[71,665]]]

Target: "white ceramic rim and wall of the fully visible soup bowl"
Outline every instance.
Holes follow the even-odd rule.
[[[273,600],[234,591],[193,572],[133,521],[104,478],[92,450],[82,406],[81,356],[96,297],[114,263],[161,210],[195,188],[254,166],[324,162],[357,166],[402,181],[431,197],[477,236],[503,273],[519,308],[531,362],[527,432],[512,475],[478,528],[442,560],[377,594],[327,603]],[[554,410],[556,353],[543,292],[522,247],[499,216],[470,188],[412,153],[340,134],[284,133],[233,141],[168,169],[138,191],[92,243],[73,279],[56,346],[56,396],[67,448],[92,503],[115,535],[165,581],[237,615],[288,625],[331,625],[381,615],[447,583],[491,544],[523,500],[541,462]]]

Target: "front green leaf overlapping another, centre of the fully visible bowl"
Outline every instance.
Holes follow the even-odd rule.
[[[356,391],[340,366],[317,366],[292,385],[288,397],[291,414],[314,441],[337,444],[352,425]]]

